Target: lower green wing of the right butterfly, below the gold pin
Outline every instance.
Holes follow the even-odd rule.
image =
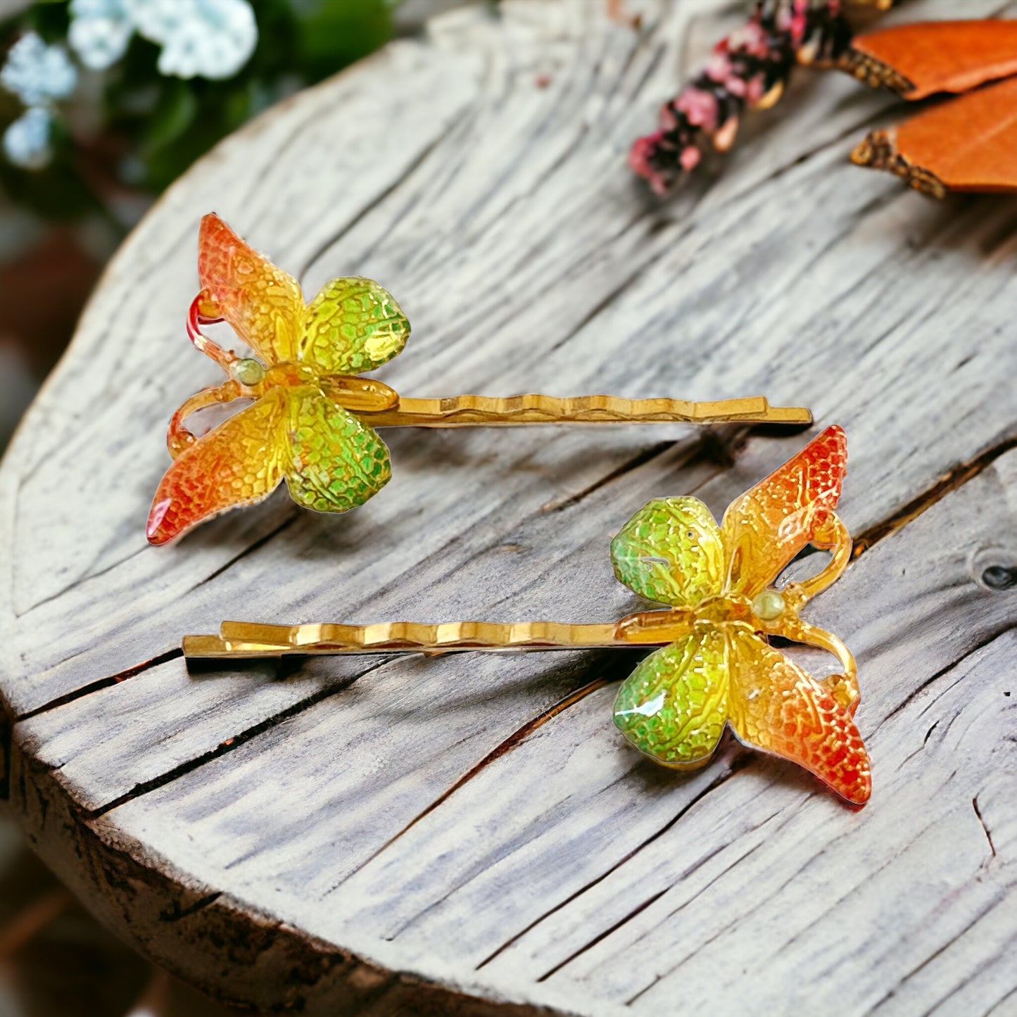
[[[701,629],[651,653],[622,682],[614,723],[664,766],[696,769],[713,755],[727,720],[727,638]]]

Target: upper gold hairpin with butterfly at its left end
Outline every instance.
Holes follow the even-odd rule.
[[[804,408],[771,407],[763,398],[406,399],[382,381],[360,376],[399,354],[410,334],[399,305],[377,283],[334,279],[305,304],[292,276],[215,215],[201,220],[198,276],[201,291],[190,306],[187,333],[228,380],[192,396],[170,421],[173,463],[148,514],[153,544],[165,544],[228,508],[253,504],[283,480],[306,508],[341,513],[363,504],[391,473],[376,427],[812,421]],[[224,320],[252,356],[224,350],[201,332]],[[200,437],[187,429],[196,410],[238,399],[254,403]]]

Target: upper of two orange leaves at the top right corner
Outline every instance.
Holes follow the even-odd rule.
[[[906,99],[961,93],[1017,74],[1017,21],[924,21],[851,40],[844,63],[870,84]]]

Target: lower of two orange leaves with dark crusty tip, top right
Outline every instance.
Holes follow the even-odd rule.
[[[936,197],[948,190],[1017,191],[1017,77],[873,131],[851,160],[896,173]]]

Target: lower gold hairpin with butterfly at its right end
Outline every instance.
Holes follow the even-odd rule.
[[[219,636],[187,636],[197,659],[287,654],[447,653],[658,646],[621,684],[614,723],[657,763],[709,763],[725,726],[746,745],[799,764],[847,801],[872,790],[854,723],[857,669],[834,635],[799,617],[847,567],[851,538],[835,508],[847,462],[840,427],[827,428],[724,513],[698,498],[657,498],[611,541],[614,574],[663,610],[617,622],[412,621],[277,625],[226,621]],[[817,575],[776,585],[812,544],[830,552]],[[841,673],[816,678],[769,637],[833,654]]]

